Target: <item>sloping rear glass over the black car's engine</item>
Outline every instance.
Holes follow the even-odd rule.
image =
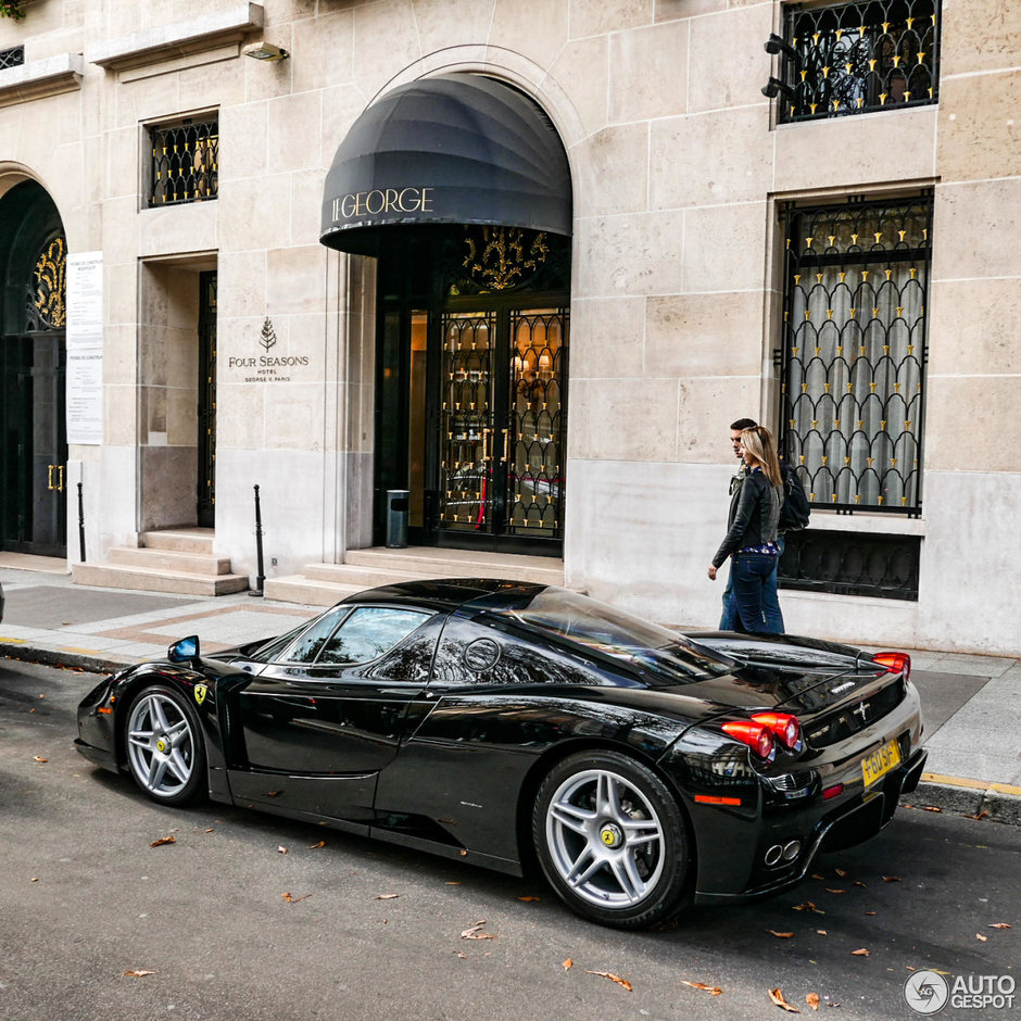
[[[677,631],[566,589],[544,589],[527,606],[495,612],[623,660],[638,668],[647,683],[686,684],[731,669]]]

